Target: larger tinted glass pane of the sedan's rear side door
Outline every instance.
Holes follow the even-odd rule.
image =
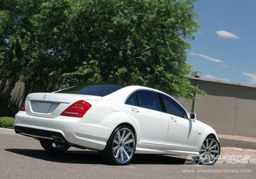
[[[162,111],[160,101],[156,92],[148,90],[136,91],[140,107],[148,108],[151,110]]]

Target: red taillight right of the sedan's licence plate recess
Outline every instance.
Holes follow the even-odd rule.
[[[83,117],[90,108],[90,103],[87,103],[84,100],[79,100],[73,105],[70,105],[60,116]]]

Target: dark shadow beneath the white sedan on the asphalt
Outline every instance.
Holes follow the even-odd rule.
[[[5,151],[19,155],[46,160],[58,163],[78,163],[78,164],[104,164],[98,151],[92,150],[68,150],[65,153],[50,153],[40,149],[16,149],[7,148]],[[135,154],[129,164],[184,164],[185,158],[167,156],[167,155],[145,155]]]

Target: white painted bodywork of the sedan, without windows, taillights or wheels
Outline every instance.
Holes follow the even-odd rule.
[[[128,124],[134,129],[135,153],[196,155],[208,135],[213,135],[219,140],[216,132],[203,122],[124,104],[128,96],[139,89],[165,94],[141,86],[127,86],[103,97],[32,93],[27,96],[26,112],[19,111],[16,114],[14,126],[59,132],[71,146],[74,144],[99,151],[106,147],[110,135],[121,124]],[[47,95],[45,99],[44,95]],[[85,100],[92,105],[82,118],[60,116],[78,100]],[[46,104],[47,102],[49,104]],[[172,121],[171,117],[176,122]],[[38,137],[32,134],[27,136]]]

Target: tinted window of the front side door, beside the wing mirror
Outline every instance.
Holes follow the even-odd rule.
[[[165,108],[168,114],[187,119],[187,112],[181,107],[181,105],[179,105],[175,100],[171,99],[166,95],[160,95],[164,101]]]

